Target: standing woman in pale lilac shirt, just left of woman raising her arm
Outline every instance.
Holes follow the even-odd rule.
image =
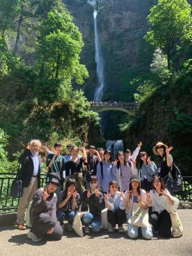
[[[120,190],[128,190],[128,183],[132,176],[132,165],[126,162],[124,152],[118,152],[117,160],[113,162],[112,173],[116,176]]]

